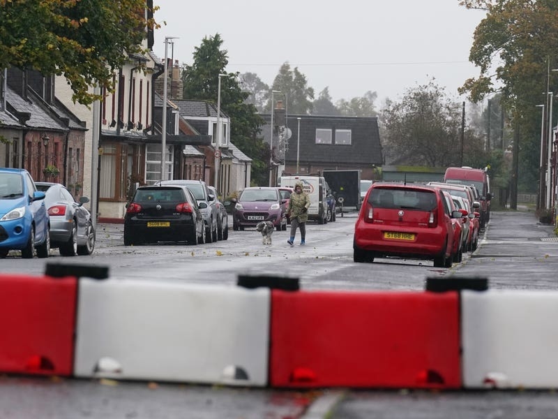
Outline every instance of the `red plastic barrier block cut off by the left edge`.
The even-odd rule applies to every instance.
[[[0,372],[73,374],[77,279],[0,275]]]

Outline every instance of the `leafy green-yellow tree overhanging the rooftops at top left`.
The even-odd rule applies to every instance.
[[[142,54],[158,24],[145,0],[0,0],[0,68],[64,75],[73,99],[89,105],[91,86],[113,89],[113,74]],[[100,97],[97,97],[100,98]]]

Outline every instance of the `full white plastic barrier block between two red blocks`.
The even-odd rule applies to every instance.
[[[269,288],[80,279],[75,376],[264,386]]]

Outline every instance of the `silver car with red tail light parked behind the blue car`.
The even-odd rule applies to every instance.
[[[50,247],[57,247],[62,256],[90,255],[95,248],[95,228],[91,213],[84,207],[89,198],[77,203],[65,186],[52,182],[36,182],[45,193],[50,216]]]

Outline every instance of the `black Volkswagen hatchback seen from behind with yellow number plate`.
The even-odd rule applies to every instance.
[[[124,244],[188,242],[203,244],[204,217],[186,186],[140,186],[124,217]]]

